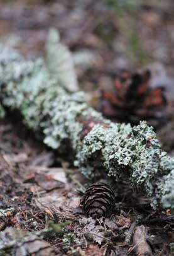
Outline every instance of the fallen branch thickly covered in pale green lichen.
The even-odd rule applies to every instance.
[[[48,44],[52,58],[53,49],[57,57],[55,37]],[[18,109],[24,123],[51,148],[67,154],[73,149],[75,165],[87,177],[129,180],[134,189],[152,198],[153,207],[174,209],[174,161],[161,150],[153,128],[145,122],[131,127],[104,119],[82,92],[67,93],[65,80],[54,76],[52,65],[50,72],[52,58],[25,61],[1,47],[0,104]]]

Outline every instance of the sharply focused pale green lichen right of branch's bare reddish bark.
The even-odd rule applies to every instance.
[[[150,147],[147,148],[149,140]],[[171,171],[174,170],[174,161],[161,151],[153,128],[146,122],[133,128],[111,124],[107,130],[95,125],[85,137],[77,157],[78,165],[82,166],[81,171],[87,177],[102,176],[104,172],[116,180],[127,179],[134,189],[152,197],[153,207],[160,198],[163,206],[174,207]]]

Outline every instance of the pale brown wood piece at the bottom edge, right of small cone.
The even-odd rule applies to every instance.
[[[151,256],[152,251],[150,245],[146,241],[147,228],[143,225],[137,226],[134,231],[133,244],[135,246],[136,255]]]

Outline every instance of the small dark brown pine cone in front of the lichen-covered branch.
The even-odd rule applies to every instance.
[[[81,205],[87,216],[110,216],[115,204],[115,194],[106,183],[94,183],[84,193]]]

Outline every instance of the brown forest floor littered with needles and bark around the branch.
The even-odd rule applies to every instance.
[[[154,83],[165,85],[171,108],[173,11],[172,1],[142,1],[141,6],[112,6],[109,11],[104,1],[0,0],[0,42],[26,57],[43,56],[48,28],[55,26],[75,56],[80,88],[87,97],[112,87],[112,76],[120,69],[148,67]],[[134,230],[141,225],[147,232],[141,239],[153,255],[172,255],[170,211],[153,211],[150,199],[125,182],[111,218],[86,218],[79,203],[88,181],[68,160],[69,152],[60,156],[46,148],[14,115],[0,120],[0,250],[4,255],[11,255],[13,247],[20,248],[21,254],[16,255],[22,256],[135,255]],[[171,155],[173,127],[171,117],[158,131]],[[29,233],[16,235],[14,228]],[[141,245],[139,250],[143,253]]]

